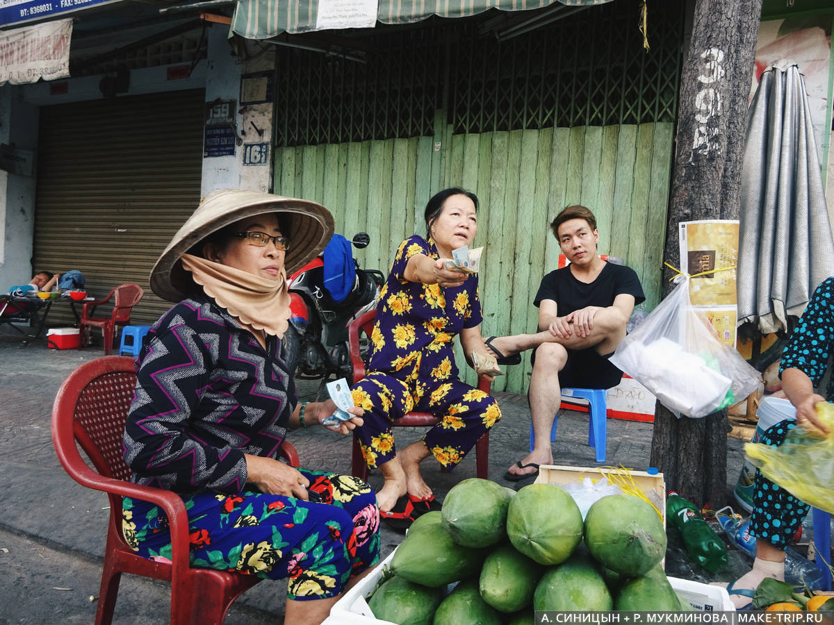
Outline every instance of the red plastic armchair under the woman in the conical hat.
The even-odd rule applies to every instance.
[[[96,358],[70,373],[53,405],[52,432],[58,460],[76,482],[108,493],[110,499],[96,623],[113,620],[123,572],[171,582],[172,623],[222,623],[234,599],[258,583],[260,577],[190,567],[188,515],[182,498],[171,491],[128,482],[130,469],[122,457],[122,433],[135,384],[133,358]],[[84,462],[78,446],[93,468]],[[281,455],[291,466],[299,466],[298,454],[290,443],[282,443]],[[172,562],[145,559],[128,546],[122,535],[123,497],[163,508],[170,522]]]

